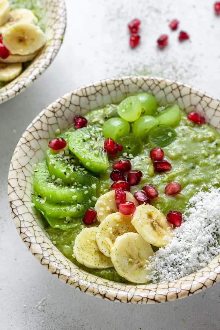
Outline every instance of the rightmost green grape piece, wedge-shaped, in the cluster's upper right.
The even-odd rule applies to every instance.
[[[175,126],[180,122],[181,112],[177,104],[168,106],[159,115],[156,116],[160,124]]]

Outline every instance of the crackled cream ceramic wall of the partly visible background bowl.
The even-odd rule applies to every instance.
[[[48,68],[60,49],[66,29],[65,0],[47,0],[46,37],[47,43],[31,64],[16,79],[0,88],[0,103],[16,96],[29,87]]]

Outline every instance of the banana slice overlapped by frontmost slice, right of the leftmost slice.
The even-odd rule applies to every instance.
[[[100,251],[107,257],[110,257],[110,250],[118,236],[129,232],[136,233],[131,224],[131,215],[123,215],[120,212],[108,215],[98,229],[96,242]]]

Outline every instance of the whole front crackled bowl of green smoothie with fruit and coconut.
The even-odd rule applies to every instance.
[[[124,77],[64,95],[15,149],[17,230],[83,292],[155,303],[220,280],[220,103],[170,80]]]

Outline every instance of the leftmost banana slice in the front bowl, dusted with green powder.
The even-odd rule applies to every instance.
[[[77,235],[73,248],[73,256],[77,261],[89,268],[113,267],[111,259],[100,252],[96,243],[97,227],[84,228]]]

